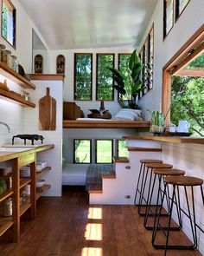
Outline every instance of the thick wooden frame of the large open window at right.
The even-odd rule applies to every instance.
[[[178,75],[180,70],[201,52],[204,52],[204,24],[163,67],[162,111],[166,116],[165,124],[169,124],[170,121],[171,76]]]

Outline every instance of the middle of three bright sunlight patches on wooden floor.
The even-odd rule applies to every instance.
[[[86,240],[102,240],[102,224],[86,224],[85,238]]]

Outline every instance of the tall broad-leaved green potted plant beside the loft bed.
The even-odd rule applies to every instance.
[[[128,100],[128,108],[137,108],[136,99],[138,93],[143,89],[140,79],[143,64],[135,49],[127,62],[127,69],[122,72],[119,69],[110,68],[113,80],[117,82],[114,88],[118,90],[120,101],[123,102],[123,95]]]

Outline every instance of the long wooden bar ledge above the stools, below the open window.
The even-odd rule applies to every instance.
[[[143,136],[124,136],[123,138],[125,140],[150,140],[150,141],[164,141],[164,142],[174,142],[174,143],[204,144],[204,138],[202,138],[202,137],[177,137],[177,136],[143,135]]]

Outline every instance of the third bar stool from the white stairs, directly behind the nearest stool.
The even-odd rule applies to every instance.
[[[153,226],[148,226],[147,225],[149,216],[158,214],[157,211],[158,211],[158,207],[159,207],[159,198],[161,198],[161,200],[162,200],[162,194],[164,193],[163,188],[162,188],[163,178],[165,176],[183,176],[183,175],[185,175],[185,171],[183,171],[181,169],[175,169],[175,168],[174,169],[170,169],[170,168],[154,169],[153,173],[155,174],[155,176],[154,176],[154,181],[153,181],[153,185],[152,185],[151,192],[150,192],[150,200],[147,203],[145,217],[144,217],[144,220],[143,220],[143,226],[145,226],[149,230],[153,230],[154,226],[155,226],[155,223],[154,223]],[[158,179],[158,182],[159,182],[158,190],[157,190],[158,191],[157,192],[157,198],[156,198],[156,212],[154,214],[150,214],[151,200],[152,200],[152,195],[153,195],[154,190],[155,190],[156,178]],[[169,211],[170,211],[169,189],[167,189],[167,191],[165,192],[165,196],[166,196],[168,213],[160,213],[160,215],[169,216]],[[177,214],[178,214],[179,226],[171,227],[171,229],[172,230],[180,230],[182,228],[181,212],[179,211],[180,207],[178,206],[177,201],[175,201],[175,205],[176,205]],[[165,229],[165,227],[164,227],[164,229]]]

